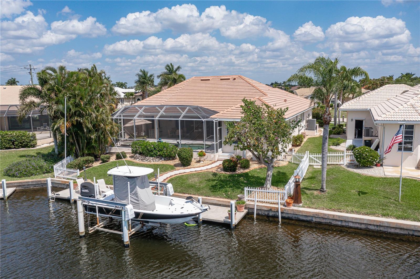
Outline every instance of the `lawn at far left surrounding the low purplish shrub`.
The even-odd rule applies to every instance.
[[[26,150],[1,150],[0,151],[0,176],[1,179],[5,179],[6,181],[12,180],[24,180],[24,179],[37,179],[37,178],[47,178],[51,176],[51,173],[40,174],[37,176],[29,176],[29,177],[9,177],[4,175],[4,169],[19,160],[25,159],[26,156],[41,156],[44,154],[53,151],[54,147],[47,146],[37,149],[26,149]],[[54,176],[54,173],[52,173]]]

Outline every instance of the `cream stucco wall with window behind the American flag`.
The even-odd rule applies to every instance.
[[[385,124],[385,149],[391,142],[392,137],[394,137],[395,133],[399,129],[399,124]],[[414,125],[414,141],[413,141],[413,151],[408,152],[404,151],[402,158],[403,158],[403,166],[409,168],[418,168],[419,167],[419,160],[420,160],[420,124]],[[385,166],[392,166],[392,167],[399,167],[401,166],[401,151],[397,151],[398,147],[395,144],[392,147],[391,152],[385,154],[386,159],[383,160],[383,165]]]

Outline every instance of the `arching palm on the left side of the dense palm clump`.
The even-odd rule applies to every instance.
[[[64,96],[69,88],[76,82],[78,74],[70,72],[65,66],[45,67],[37,72],[39,86],[26,85],[19,93],[21,106],[17,115],[21,122],[29,111],[40,109],[41,113],[46,111],[52,122],[59,118],[60,102],[64,101]],[[53,125],[51,125],[53,127]],[[58,154],[57,128],[52,128],[55,154]]]

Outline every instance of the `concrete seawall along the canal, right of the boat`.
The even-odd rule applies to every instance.
[[[186,196],[197,197],[194,195],[177,193],[173,194],[173,196],[179,198],[185,198]],[[202,202],[210,205],[228,206],[230,201],[231,200],[229,199],[202,197]],[[247,202],[245,208],[248,209],[248,213],[254,213],[254,203]],[[257,203],[257,214],[278,217],[278,207],[277,205]],[[341,227],[351,227],[361,230],[420,236],[420,222],[414,221],[349,214],[305,207],[289,208],[284,206],[281,206],[281,217]]]

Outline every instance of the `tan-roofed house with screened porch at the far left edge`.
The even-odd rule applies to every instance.
[[[16,115],[21,101],[19,93],[24,85],[1,85],[0,86],[0,129],[45,131],[50,127],[50,119],[45,113],[41,114],[34,109],[26,115],[26,118],[19,124]]]

